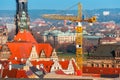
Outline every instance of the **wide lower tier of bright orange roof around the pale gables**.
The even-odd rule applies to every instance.
[[[30,42],[9,42],[7,43],[12,55],[10,59],[14,59],[17,57],[18,59],[21,58],[29,58],[32,46],[36,46],[36,50],[38,55],[42,50],[44,50],[46,57],[50,57],[52,54],[52,47],[50,44],[32,44]]]

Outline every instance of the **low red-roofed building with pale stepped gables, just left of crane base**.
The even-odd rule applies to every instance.
[[[44,69],[45,72],[59,72],[61,70],[64,74],[75,74],[77,66],[74,59],[70,61],[31,61],[31,64],[36,68]]]

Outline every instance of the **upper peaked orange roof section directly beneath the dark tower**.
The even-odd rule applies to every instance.
[[[37,43],[33,35],[26,30],[19,31],[18,34],[14,37],[14,41],[25,41],[25,42]]]

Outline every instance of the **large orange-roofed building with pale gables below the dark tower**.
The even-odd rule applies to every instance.
[[[48,43],[37,43],[33,35],[27,30],[20,30],[12,42],[7,42],[9,60],[51,60],[58,59],[55,50]],[[4,54],[3,54],[4,56]],[[0,57],[4,59],[4,57]],[[14,61],[15,62],[15,61]]]

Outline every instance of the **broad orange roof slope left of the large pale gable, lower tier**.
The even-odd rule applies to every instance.
[[[26,42],[12,42],[12,43],[7,43],[7,45],[12,53],[10,59],[14,59],[15,57],[21,59],[21,58],[29,58],[33,44]]]

